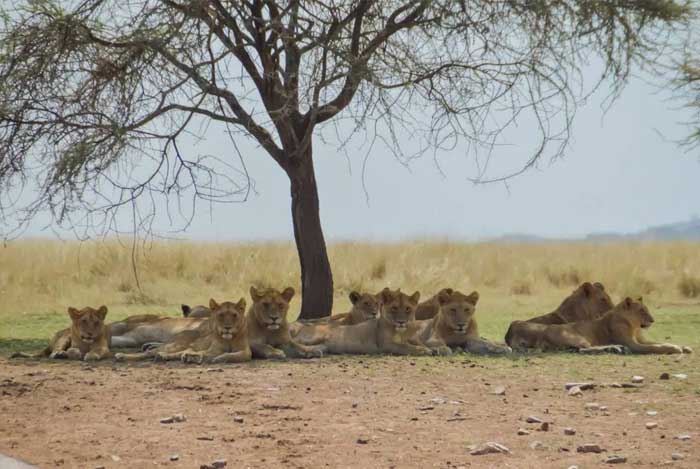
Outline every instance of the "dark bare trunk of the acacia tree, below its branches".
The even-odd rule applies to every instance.
[[[294,239],[301,264],[300,319],[321,318],[333,308],[333,274],[323,238],[311,147],[287,169]]]

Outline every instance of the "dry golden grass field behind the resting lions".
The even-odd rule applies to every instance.
[[[341,243],[329,247],[335,312],[353,290],[385,286],[423,297],[450,286],[478,290],[484,336],[502,340],[513,319],[549,312],[576,285],[601,281],[613,301],[644,295],[654,339],[700,344],[700,243],[459,244]],[[132,257],[133,256],[133,257]],[[139,284],[134,276],[135,259]],[[106,304],[108,319],[136,313],[179,315],[180,304],[248,299],[250,285],[299,291],[291,244],[26,240],[0,248],[0,354],[40,347],[68,324],[67,306]],[[299,296],[292,302],[298,311]]]

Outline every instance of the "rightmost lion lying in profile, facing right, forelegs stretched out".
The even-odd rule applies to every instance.
[[[515,321],[508,328],[506,343],[518,350],[543,351],[576,349],[583,353],[600,351],[633,353],[691,353],[690,347],[657,344],[642,337],[654,318],[642,298],[625,298],[598,319],[568,324],[539,324]]]

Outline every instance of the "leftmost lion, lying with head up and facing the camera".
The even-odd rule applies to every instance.
[[[112,355],[109,350],[110,331],[105,325],[106,306],[97,309],[88,306],[81,310],[69,307],[68,315],[71,319],[70,328],[54,334],[44,350],[37,354],[19,352],[12,357],[96,361]]]

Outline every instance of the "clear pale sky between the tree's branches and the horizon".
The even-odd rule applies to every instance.
[[[603,112],[594,96],[574,122],[566,156],[504,184],[474,185],[474,161],[457,149],[400,164],[385,148],[348,155],[315,141],[321,218],[326,239],[474,240],[507,233],[573,237],[590,232],[631,232],[700,215],[700,149],[684,152],[670,139],[686,132],[678,103],[633,80]],[[527,127],[527,126],[526,126]],[[661,136],[662,134],[663,136]],[[527,130],[514,132],[493,153],[497,170],[517,169],[530,156]],[[292,240],[289,183],[282,170],[250,143],[241,143],[256,192],[245,203],[202,205],[193,225],[177,237],[193,240]],[[231,154],[221,129],[190,151]],[[25,236],[51,236],[38,220]],[[128,229],[128,220],[123,228]],[[168,235],[165,217],[155,229]]]

